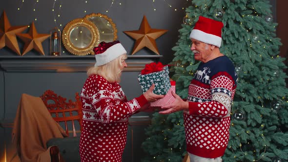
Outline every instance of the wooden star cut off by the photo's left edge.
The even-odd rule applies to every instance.
[[[27,27],[28,26],[11,26],[5,11],[3,11],[0,18],[0,49],[7,46],[18,55],[21,55],[16,34],[21,33]]]

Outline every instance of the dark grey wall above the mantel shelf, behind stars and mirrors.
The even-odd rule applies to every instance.
[[[5,10],[8,19],[12,26],[17,25],[30,25],[32,21],[35,22],[38,33],[49,34],[49,31],[56,26],[54,19],[56,18],[57,26],[62,30],[65,24],[70,20],[76,18],[82,18],[86,14],[90,13],[102,13],[106,14],[111,18],[118,29],[118,40],[123,43],[128,54],[132,52],[134,46],[134,40],[123,33],[123,31],[138,30],[145,15],[151,28],[155,29],[166,29],[168,30],[160,38],[156,39],[159,53],[163,55],[161,61],[171,61],[172,51],[171,48],[175,45],[178,40],[178,29],[181,28],[185,11],[182,7],[187,7],[187,1],[171,1],[173,8],[178,9],[174,11],[173,8],[169,7],[166,1],[156,1],[153,3],[152,0],[121,0],[121,5],[118,4],[118,0],[109,8],[111,0],[57,0],[62,1],[62,7],[60,17],[53,16],[53,2],[54,0],[25,0],[23,3],[21,0],[3,0],[0,4],[0,12]],[[59,5],[55,4],[55,10],[58,10]],[[156,11],[153,10],[153,4]],[[18,10],[17,8],[20,8]],[[35,7],[35,11],[33,8]],[[105,11],[109,9],[108,13]],[[86,13],[84,13],[86,11]],[[56,14],[58,11],[54,11]],[[35,21],[35,18],[37,20]],[[60,26],[59,24],[62,24]],[[23,33],[26,33],[24,31]],[[23,43],[19,40],[19,44]],[[42,43],[45,54],[49,51],[48,39]],[[22,51],[22,50],[21,50]],[[15,55],[13,51],[8,48],[0,50],[1,56]],[[26,55],[41,55],[35,51],[31,51]],[[71,55],[65,51],[62,55]],[[155,55],[152,51],[145,48],[137,52],[135,55]]]

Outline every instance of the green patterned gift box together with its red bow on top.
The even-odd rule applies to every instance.
[[[171,87],[168,66],[164,66],[161,62],[146,64],[138,75],[138,81],[143,93],[150,88],[152,83],[155,84],[153,93],[158,95],[165,95]]]

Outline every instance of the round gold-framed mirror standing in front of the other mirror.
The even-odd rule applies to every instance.
[[[100,42],[97,26],[85,19],[74,19],[66,24],[62,31],[64,47],[74,55],[92,54],[93,48]]]

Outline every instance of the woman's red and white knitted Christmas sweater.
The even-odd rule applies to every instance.
[[[128,119],[147,100],[141,95],[127,101],[119,83],[91,75],[82,88],[81,101],[81,162],[121,162]]]

